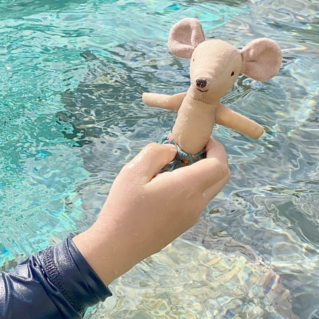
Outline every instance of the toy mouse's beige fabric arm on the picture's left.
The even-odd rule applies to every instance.
[[[165,108],[170,111],[178,111],[187,92],[174,95],[159,94],[159,93],[143,93],[143,102],[154,108]]]

